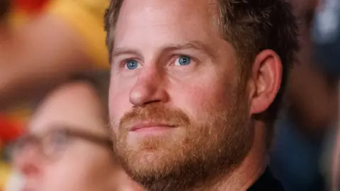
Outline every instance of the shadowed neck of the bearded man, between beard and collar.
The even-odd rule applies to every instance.
[[[216,181],[217,183],[212,187],[197,188],[197,190],[242,191],[249,189],[259,179],[268,164],[266,143],[263,141],[266,139],[266,130],[264,124],[255,129],[253,145],[241,165],[229,175],[219,178],[219,181]]]

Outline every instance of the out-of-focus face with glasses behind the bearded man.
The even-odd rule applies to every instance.
[[[113,160],[102,106],[83,82],[62,86],[42,102],[15,147],[23,190],[138,190]]]

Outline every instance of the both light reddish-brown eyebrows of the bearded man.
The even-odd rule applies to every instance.
[[[174,50],[186,50],[186,49],[193,49],[205,52],[210,57],[215,57],[214,52],[210,49],[209,45],[205,45],[202,42],[199,41],[190,41],[183,44],[170,44],[166,45],[162,48],[162,52],[169,52]],[[142,54],[140,51],[135,49],[130,49],[127,47],[115,47],[113,49],[112,58],[118,57],[122,54],[135,54],[139,57],[142,57]]]

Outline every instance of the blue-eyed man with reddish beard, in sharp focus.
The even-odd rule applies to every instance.
[[[111,1],[115,150],[146,190],[283,190],[266,168],[297,52],[284,0]]]

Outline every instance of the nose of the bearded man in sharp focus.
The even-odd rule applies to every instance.
[[[156,66],[143,68],[130,91],[130,103],[143,106],[154,102],[165,103],[168,100],[169,95],[166,92],[165,75],[162,69]]]

